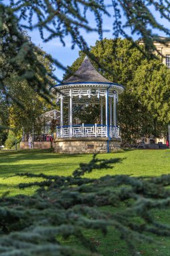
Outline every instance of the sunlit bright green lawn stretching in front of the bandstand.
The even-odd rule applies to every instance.
[[[17,172],[34,172],[69,175],[80,162],[89,162],[92,155],[60,155],[48,150],[0,151],[1,193],[7,189],[11,194],[21,193],[16,185],[29,182],[28,178],[11,177]],[[134,176],[156,176],[170,172],[170,150],[126,150],[124,152],[100,154],[98,158],[121,158],[122,162],[110,170],[97,170],[90,177],[105,174],[132,174]],[[22,192],[23,193],[23,192]],[[26,191],[32,193],[32,191]]]

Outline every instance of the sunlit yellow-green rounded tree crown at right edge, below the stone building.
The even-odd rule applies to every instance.
[[[170,121],[170,72],[165,65],[157,64],[157,61],[149,63],[144,61],[142,67],[138,67],[134,77],[134,88],[144,102],[144,106],[147,106],[155,117],[155,121],[167,126]]]

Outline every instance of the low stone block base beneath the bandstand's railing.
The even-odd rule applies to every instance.
[[[109,152],[120,150],[122,139],[109,140]],[[60,154],[98,154],[108,153],[107,137],[72,137],[56,138],[54,140],[54,152]]]

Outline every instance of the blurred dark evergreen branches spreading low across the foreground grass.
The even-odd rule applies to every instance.
[[[153,234],[170,236],[170,225],[159,222],[153,214],[157,209],[169,209],[170,175],[147,179],[126,175],[81,177],[95,169],[102,172],[103,168],[112,168],[119,161],[94,156],[89,164],[81,164],[74,177],[17,174],[43,181],[20,185],[38,186],[30,197],[1,197],[1,255],[79,255],[77,247],[61,243],[70,236],[85,247],[81,255],[99,255],[85,230],[100,230],[105,235],[111,226],[127,243],[129,255],[138,255],[138,242],[155,243]],[[110,206],[110,211],[105,206]]]

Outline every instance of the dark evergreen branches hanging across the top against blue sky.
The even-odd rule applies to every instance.
[[[69,34],[73,42],[73,48],[78,45],[81,50],[88,51],[85,38],[83,38],[81,29],[87,32],[96,31],[102,38],[103,15],[113,16],[113,34],[116,38],[124,36],[132,38],[127,34],[126,27],[130,28],[131,34],[138,34],[144,41],[148,53],[157,51],[153,41],[166,43],[168,38],[159,38],[155,30],[159,30],[170,36],[169,26],[159,24],[157,18],[153,15],[151,9],[156,9],[157,15],[170,21],[169,18],[169,1],[153,0],[112,0],[112,5],[107,5],[104,1],[11,1],[13,11],[19,11],[20,19],[28,21],[28,26],[22,27],[33,30],[39,28],[42,39],[44,39],[44,30],[49,32],[49,36],[44,39],[48,42],[52,38],[60,38],[65,46],[65,35]],[[96,26],[91,26],[87,11],[91,11],[96,21]],[[122,18],[122,11],[126,21]],[[37,22],[33,22],[36,15]],[[81,28],[81,29],[80,29]],[[137,46],[137,45],[136,45]]]

